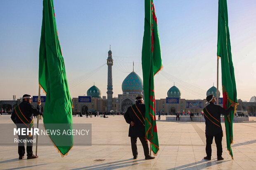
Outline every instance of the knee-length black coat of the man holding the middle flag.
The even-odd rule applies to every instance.
[[[141,103],[136,105],[142,113],[142,116],[145,118],[145,105]],[[131,121],[135,123],[134,126],[130,125],[129,127],[129,137],[145,137],[145,126],[134,114],[132,107],[128,107],[127,112],[124,114],[124,119],[126,119],[128,124],[130,124]]]

